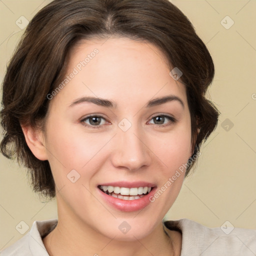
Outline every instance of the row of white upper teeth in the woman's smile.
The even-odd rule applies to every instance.
[[[100,186],[103,191],[108,190],[109,193],[114,192],[116,194],[122,194],[122,195],[138,195],[138,194],[146,194],[147,192],[150,192],[151,187],[147,186],[140,186],[140,187],[119,187],[119,186]]]

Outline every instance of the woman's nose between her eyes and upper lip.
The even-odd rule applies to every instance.
[[[151,151],[147,146],[146,136],[135,125],[131,125],[126,131],[118,127],[113,139],[111,159],[116,168],[135,171],[150,164]]]

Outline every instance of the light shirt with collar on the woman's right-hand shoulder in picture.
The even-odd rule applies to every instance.
[[[182,233],[181,256],[207,255],[217,253],[228,255],[256,255],[256,230],[239,227],[210,228],[196,221],[182,218],[164,221],[170,230]]]

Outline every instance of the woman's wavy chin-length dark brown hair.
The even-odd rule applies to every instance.
[[[0,112],[1,152],[8,158],[16,155],[30,170],[33,190],[45,196],[55,196],[49,162],[30,151],[20,123],[43,127],[49,104],[46,95],[65,74],[75,43],[111,35],[153,43],[166,56],[170,70],[182,71],[179,81],[186,87],[191,116],[191,157],[217,125],[218,110],[205,98],[214,75],[211,56],[175,5],[168,0],[54,0],[29,22],[8,64]],[[185,176],[194,162],[187,166]]]

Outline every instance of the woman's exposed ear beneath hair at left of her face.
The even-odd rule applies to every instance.
[[[33,155],[39,160],[47,160],[48,157],[46,147],[44,146],[45,141],[42,131],[36,130],[31,126],[21,125],[21,128],[24,133],[26,143],[32,151]]]

